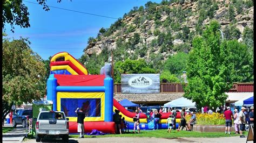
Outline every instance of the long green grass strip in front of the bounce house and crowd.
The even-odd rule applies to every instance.
[[[103,138],[103,137],[156,137],[156,138],[177,138],[177,137],[193,137],[193,138],[218,138],[218,137],[229,137],[229,135],[224,132],[196,132],[196,131],[173,131],[171,133],[167,133],[166,130],[141,130],[140,134],[136,133],[124,133],[124,134],[107,134],[107,135],[85,135],[85,138]],[[248,131],[245,131],[245,135],[248,134]],[[239,134],[232,134],[231,137],[239,136]],[[79,135],[69,135],[69,138],[78,138]]]

